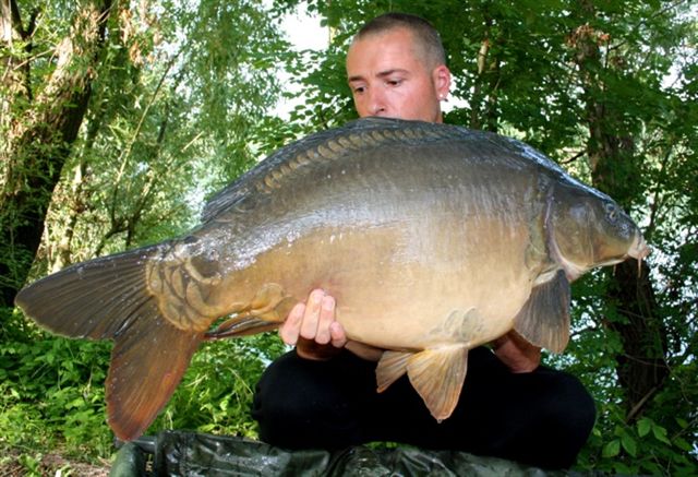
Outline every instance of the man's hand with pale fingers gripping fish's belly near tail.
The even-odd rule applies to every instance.
[[[305,303],[298,303],[279,329],[287,345],[296,345],[298,356],[325,360],[344,347],[360,358],[377,361],[383,350],[347,339],[345,329],[337,321],[335,299],[322,289],[311,291]]]

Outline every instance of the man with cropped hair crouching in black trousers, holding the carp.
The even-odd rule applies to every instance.
[[[361,117],[443,120],[450,72],[438,34],[422,19],[390,13],[364,25],[349,48],[347,75]],[[407,377],[376,393],[382,350],[347,339],[335,306],[313,290],[281,326],[296,348],[257,384],[253,416],[262,440],[289,449],[394,441],[547,468],[574,464],[593,426],[593,401],[571,375],[540,366],[540,349],[515,332],[493,351],[470,351],[458,406],[438,424]]]

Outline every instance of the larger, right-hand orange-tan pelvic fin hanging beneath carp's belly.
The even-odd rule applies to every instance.
[[[468,348],[449,345],[425,349],[407,361],[407,375],[430,413],[440,422],[458,404],[468,370]]]

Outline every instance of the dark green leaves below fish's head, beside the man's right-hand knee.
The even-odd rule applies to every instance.
[[[695,475],[695,428],[688,420],[695,419],[698,395],[695,365],[677,367],[652,406],[630,418],[615,374],[623,345],[599,319],[624,320],[601,299],[604,274],[594,272],[575,283],[573,341],[564,355],[546,358],[581,379],[597,403],[597,422],[577,465],[621,475]]]

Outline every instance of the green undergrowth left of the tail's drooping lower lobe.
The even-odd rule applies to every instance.
[[[31,327],[23,339],[0,346],[0,446],[65,446],[71,455],[108,455],[103,382],[109,345]]]

